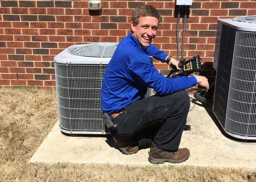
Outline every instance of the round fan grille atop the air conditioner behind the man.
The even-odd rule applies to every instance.
[[[77,56],[109,58],[113,56],[117,45],[118,43],[87,44],[83,46],[69,48],[68,52],[71,55],[77,55]]]

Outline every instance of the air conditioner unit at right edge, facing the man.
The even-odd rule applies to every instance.
[[[250,22],[250,23],[248,23]],[[213,112],[232,137],[256,139],[256,16],[218,20]],[[219,42],[218,42],[219,40]]]

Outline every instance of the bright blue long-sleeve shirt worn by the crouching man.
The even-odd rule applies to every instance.
[[[120,41],[110,60],[102,82],[101,107],[112,114],[142,98],[147,88],[160,95],[169,95],[197,84],[195,76],[166,78],[148,56],[164,62],[168,56],[153,45],[144,50],[130,33]]]

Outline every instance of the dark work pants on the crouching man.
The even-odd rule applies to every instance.
[[[189,111],[186,91],[172,95],[154,95],[136,100],[124,107],[123,113],[113,119],[117,134],[138,136],[139,145],[153,136],[154,144],[162,150],[176,150],[180,145]]]

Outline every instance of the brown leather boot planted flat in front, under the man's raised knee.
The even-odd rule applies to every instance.
[[[178,149],[176,152],[163,151],[158,149],[154,142],[151,142],[148,161],[153,164],[162,164],[164,162],[180,163],[186,161],[189,154],[190,152],[186,148]]]

